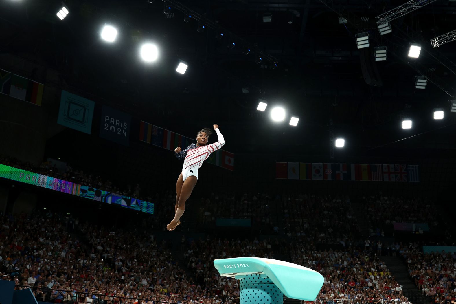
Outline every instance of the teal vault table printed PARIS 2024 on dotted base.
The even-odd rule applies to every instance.
[[[217,259],[214,266],[221,276],[239,280],[239,304],[283,304],[284,294],[313,301],[324,281],[310,268],[261,257]]]

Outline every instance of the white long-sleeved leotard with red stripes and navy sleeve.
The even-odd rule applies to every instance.
[[[217,151],[225,144],[225,139],[223,138],[220,130],[215,129],[215,132],[218,136],[218,142],[213,144],[197,147],[197,144],[191,144],[187,149],[182,150],[179,153],[176,153],[177,158],[184,158],[184,165],[182,166],[182,177],[184,181],[189,176],[196,176],[198,178],[198,168],[202,166],[202,163],[209,157],[212,152]]]

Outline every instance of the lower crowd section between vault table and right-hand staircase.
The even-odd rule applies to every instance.
[[[291,261],[324,277],[317,303],[409,303],[402,287],[372,250],[317,251],[311,245],[291,245]]]

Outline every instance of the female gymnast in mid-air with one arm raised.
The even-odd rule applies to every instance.
[[[225,139],[222,133],[218,129],[218,125],[213,125],[215,132],[218,136],[218,142],[207,145],[209,136],[212,131],[208,128],[204,128],[197,134],[197,143],[191,144],[187,149],[183,150],[177,147],[174,152],[177,158],[184,158],[184,165],[182,172],[177,178],[176,183],[176,205],[174,206],[174,212],[176,215],[171,223],[166,225],[166,229],[173,231],[176,226],[181,223],[180,219],[185,211],[185,202],[192,194],[192,190],[197,184],[198,180],[198,168],[202,166],[202,163],[209,157],[212,152],[217,151],[225,144]]]

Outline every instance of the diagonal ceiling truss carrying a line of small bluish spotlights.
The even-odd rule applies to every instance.
[[[254,44],[252,44],[251,42],[248,42],[247,40],[245,40],[241,37],[238,37],[233,32],[228,31],[227,29],[220,26],[215,21],[212,21],[209,18],[207,18],[201,14],[198,14],[198,12],[192,10],[191,8],[187,7],[186,5],[181,4],[179,1],[176,1],[176,0],[162,0],[162,1],[164,3],[166,3],[167,5],[171,5],[172,8],[175,10],[179,10],[186,15],[187,14],[192,15],[192,19],[195,19],[196,21],[201,22],[207,28],[210,28],[216,32],[223,32],[224,36],[233,37],[234,40],[236,40],[236,42],[237,42],[236,44],[244,45],[244,46],[252,46],[252,47],[250,47],[252,52],[255,52],[255,54],[257,54],[257,55],[260,55],[263,58],[263,60],[268,60],[269,62],[278,62],[279,61],[277,58],[275,58],[271,54],[264,52],[259,47],[254,46]]]

